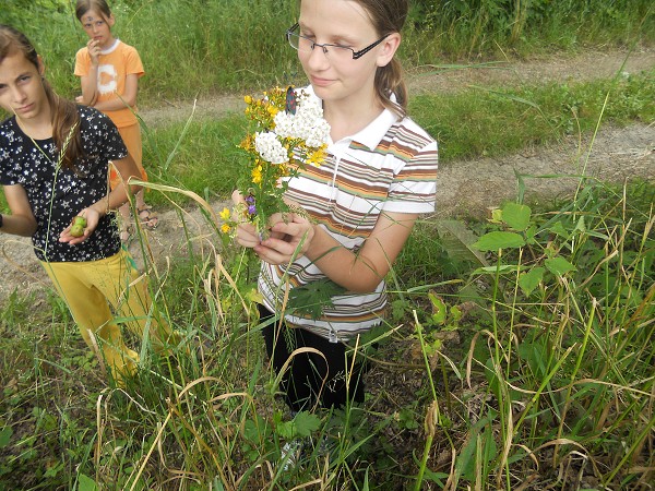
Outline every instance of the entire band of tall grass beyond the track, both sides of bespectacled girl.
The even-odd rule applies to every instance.
[[[110,2],[115,34],[135,46],[146,76],[140,103],[190,99],[296,82],[301,73],[284,33],[296,0]],[[445,61],[652,44],[647,0],[469,0],[413,2],[401,57],[408,67]],[[4,0],[0,21],[23,29],[61,94],[79,93],[74,55],[87,41],[73,0]],[[46,28],[47,27],[47,28]]]

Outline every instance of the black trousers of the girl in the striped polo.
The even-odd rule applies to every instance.
[[[260,322],[274,315],[261,304],[259,311]],[[281,326],[278,321],[263,327],[262,333],[275,373],[282,371],[295,349],[314,348],[323,355],[301,352],[289,362],[281,388],[291,410],[311,410],[317,404],[341,408],[347,400],[364,402],[366,364],[360,360],[353,364],[352,355],[346,356],[346,345],[330,343],[307,330],[289,328],[284,322]]]

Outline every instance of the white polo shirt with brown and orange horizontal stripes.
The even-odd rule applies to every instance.
[[[311,86],[305,88],[317,97]],[[385,109],[367,128],[338,142],[330,142],[320,167],[307,166],[288,181],[286,196],[343,247],[357,252],[372,232],[382,212],[430,213],[437,191],[437,142],[412,119]],[[287,289],[325,279],[306,256],[283,265],[262,262],[259,289],[264,304],[278,312]],[[347,340],[382,322],[386,306],[384,282],[369,294],[332,297],[323,315],[313,320],[285,312],[285,321],[332,342]]]

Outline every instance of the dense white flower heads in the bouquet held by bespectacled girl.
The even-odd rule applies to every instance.
[[[327,143],[330,124],[323,119],[320,100],[306,93],[297,96],[296,113],[279,111],[275,115],[275,133],[283,139],[301,139],[309,147]]]

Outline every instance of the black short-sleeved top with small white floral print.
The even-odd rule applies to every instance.
[[[59,242],[59,235],[81,209],[107,195],[109,160],[128,155],[107,116],[86,106],[78,106],[78,110],[84,157],[74,171],[59,168],[59,151],[52,139],[32,140],[19,128],[15,116],[0,125],[0,183],[25,189],[38,224],[32,242],[40,261],[96,261],[120,249],[114,214],[105,215],[84,242]]]

